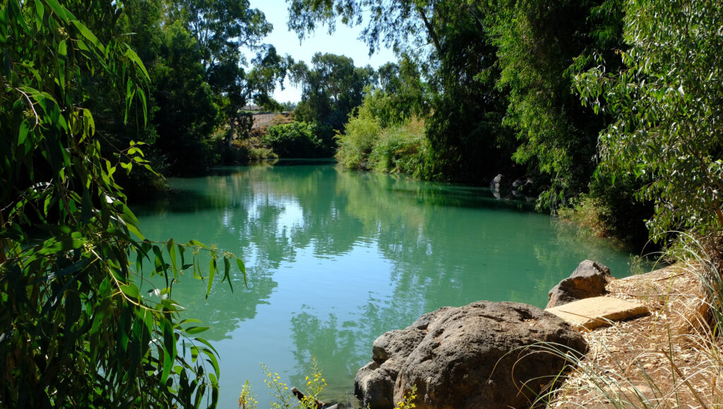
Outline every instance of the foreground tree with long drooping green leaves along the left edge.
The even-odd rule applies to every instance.
[[[116,0],[82,12],[124,18]],[[200,278],[205,251],[208,297],[232,257],[143,239],[114,181],[147,165],[140,146],[103,158],[86,108],[102,73],[127,111],[145,112],[145,67],[125,36],[99,41],[54,0],[5,1],[0,21],[0,405],[214,407],[217,354],[179,320],[171,288],[183,269]]]

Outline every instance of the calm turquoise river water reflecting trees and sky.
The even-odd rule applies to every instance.
[[[351,172],[301,162],[218,169],[169,180],[166,201],[134,208],[146,237],[216,244],[244,260],[248,288],[216,284],[208,300],[191,277],[174,288],[188,315],[212,327],[221,354],[219,408],[237,408],[244,380],[260,408],[260,363],[293,386],[312,354],[325,397],[351,397],[372,342],[427,311],[476,300],[544,307],[580,261],[628,274],[629,255],[585,238],[524,202],[480,187]]]

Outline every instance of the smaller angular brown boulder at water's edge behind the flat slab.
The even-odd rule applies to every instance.
[[[599,297],[607,294],[605,286],[612,279],[610,269],[601,263],[585,260],[578,268],[563,279],[560,284],[549,290],[547,307],[553,308],[583,298]]]

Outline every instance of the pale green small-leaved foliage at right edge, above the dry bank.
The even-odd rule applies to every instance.
[[[652,237],[669,229],[723,227],[723,5],[716,1],[630,0],[625,69],[578,75],[578,92],[614,122],[600,135],[612,174],[649,181]]]

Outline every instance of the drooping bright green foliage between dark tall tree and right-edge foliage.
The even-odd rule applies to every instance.
[[[618,15],[619,1],[603,1],[602,6],[568,0],[508,3],[493,23],[501,68],[497,87],[508,98],[504,124],[521,141],[513,159],[551,178],[540,205],[554,209],[587,190],[597,165],[597,134],[604,118],[583,109],[570,93],[571,73],[589,54],[619,43],[620,18],[596,18],[599,9],[606,16]]]

